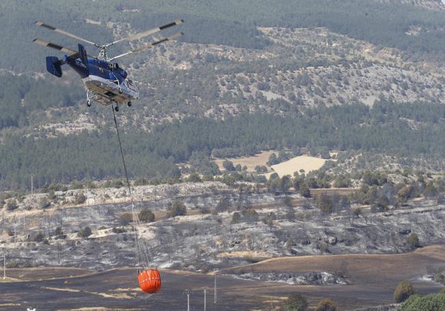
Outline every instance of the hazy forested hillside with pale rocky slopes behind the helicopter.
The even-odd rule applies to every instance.
[[[36,29],[35,20],[99,42],[186,20],[181,42],[120,64],[141,91],[118,114],[132,178],[187,175],[190,159],[205,163],[192,171],[214,175],[212,151],[230,157],[301,147],[315,155],[381,153],[395,164],[408,155],[420,168],[441,169],[445,12],[433,1],[405,2],[280,0],[269,10],[266,1],[111,1],[105,10],[93,3],[88,12],[81,5],[68,12],[58,1],[47,17],[47,0],[4,1],[9,14],[0,25],[8,26],[0,34],[11,46],[0,47],[0,81],[8,85],[0,92],[0,187],[28,187],[30,173],[37,187],[122,174],[109,109],[86,108],[72,71],[64,79],[43,73],[44,55],[54,51],[31,45],[34,37],[75,41]]]

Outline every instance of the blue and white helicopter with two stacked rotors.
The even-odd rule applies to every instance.
[[[164,29],[180,25],[181,23],[183,23],[183,20],[179,19],[172,23],[155,27],[153,29],[146,30],[145,32],[140,32],[139,34],[134,34],[127,38],[121,38],[105,45],[99,45],[98,43],[76,36],[75,34],[65,32],[62,29],[58,29],[40,21],[36,22],[36,25],[39,27],[44,27],[52,30],[53,32],[57,32],[58,34],[63,34],[65,36],[75,38],[76,40],[86,42],[90,45],[94,45],[94,47],[99,49],[99,55],[97,55],[97,57],[88,55],[84,45],[81,45],[80,43],[77,45],[77,51],[75,51],[73,49],[68,49],[67,47],[62,47],[61,45],[55,45],[52,42],[39,38],[36,38],[33,41],[38,45],[50,47],[66,53],[61,59],[56,56],[47,56],[47,71],[56,77],[62,77],[62,65],[68,64],[68,66],[74,69],[74,71],[80,75],[82,82],[84,83],[88,107],[91,106],[92,101],[96,101],[102,105],[110,105],[112,102],[114,102],[116,103],[114,110],[118,112],[119,105],[126,103],[128,107],[131,107],[131,101],[139,99],[139,90],[135,83],[128,78],[127,71],[120,68],[118,63],[114,62],[114,60],[132,53],[143,51],[144,49],[155,47],[156,45],[160,45],[161,43],[169,40],[176,40],[182,36],[183,33],[178,32],[172,36],[142,45],[142,47],[132,49],[112,58],[108,57],[108,47],[116,45],[119,42],[138,40],[146,36],[151,36]]]

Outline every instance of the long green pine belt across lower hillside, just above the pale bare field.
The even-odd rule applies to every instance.
[[[218,169],[211,162],[199,162],[219,151],[250,156],[261,150],[307,147],[313,154],[338,149],[442,157],[445,124],[440,121],[444,118],[442,105],[379,101],[372,108],[362,104],[311,108],[295,117],[191,117],[162,123],[150,133],[129,129],[122,139],[130,177],[180,176],[177,164],[188,160],[214,175]],[[417,120],[416,127],[411,120]],[[26,187],[30,174],[35,186],[122,177],[114,130],[107,127],[58,138],[5,135],[0,148],[0,188]]]

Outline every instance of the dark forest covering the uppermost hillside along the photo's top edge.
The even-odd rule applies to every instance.
[[[70,10],[66,10],[68,7]],[[169,0],[162,3],[154,0],[125,3],[110,0],[107,5],[81,0],[75,6],[66,0],[20,4],[7,0],[1,2],[0,12],[0,35],[8,42],[0,51],[0,67],[18,71],[44,71],[42,60],[48,51],[31,45],[36,34],[42,34],[42,30],[36,29],[33,22],[42,19],[99,43],[112,41],[112,31],[105,25],[106,22],[131,21],[133,31],[141,31],[177,18],[186,20],[181,31],[186,33],[182,40],[187,42],[255,49],[268,45],[268,40],[259,34],[257,26],[328,27],[334,32],[367,40],[375,45],[431,55],[444,55],[442,47],[445,43],[444,12],[368,0],[277,0],[273,3],[273,9],[270,1],[266,0]],[[102,23],[85,23],[87,18]],[[409,35],[411,27],[420,27],[416,36]],[[10,29],[14,29],[14,32]],[[50,32],[45,32],[44,36],[68,47],[76,43],[71,38]],[[124,48],[125,45],[114,47],[112,53],[119,53]]]

